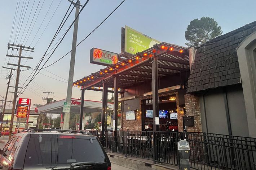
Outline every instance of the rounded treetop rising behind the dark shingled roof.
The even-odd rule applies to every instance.
[[[221,27],[213,18],[194,19],[187,26],[185,38],[189,43],[185,44],[189,47],[197,47],[221,34]]]

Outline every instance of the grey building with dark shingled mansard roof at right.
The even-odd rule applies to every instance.
[[[256,137],[256,22],[196,49],[187,93],[202,131]]]

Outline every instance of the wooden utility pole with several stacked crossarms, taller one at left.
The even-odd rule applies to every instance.
[[[16,75],[16,82],[15,82],[15,87],[14,87],[15,89],[14,89],[14,92],[10,91],[10,93],[14,93],[14,96],[13,96],[13,107],[12,107],[12,117],[11,117],[11,122],[10,122],[10,127],[9,127],[9,139],[10,139],[12,137],[15,104],[16,104],[18,93],[20,94],[20,92],[18,92],[19,74],[20,74],[20,71],[21,71],[20,67],[30,68],[29,66],[21,65],[21,58],[33,59],[32,57],[21,56],[21,53],[22,53],[22,50],[33,52],[34,48],[25,47],[25,46],[22,46],[22,44],[16,45],[16,44],[10,44],[10,43],[8,43],[8,48],[19,49],[19,56],[6,55],[6,56],[9,56],[9,57],[18,57],[19,58],[18,65],[13,64],[13,63],[7,63],[7,65],[17,66],[17,75]]]

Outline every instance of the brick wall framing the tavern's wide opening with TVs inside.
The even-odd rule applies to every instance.
[[[176,108],[177,108],[177,115],[178,115],[178,131],[183,132],[183,119],[184,116],[183,109],[179,107],[179,96],[178,92],[172,92],[172,93],[165,93],[165,94],[159,94],[159,97],[162,96],[170,96],[170,95],[176,95]],[[121,115],[121,126],[123,129],[129,127],[130,131],[141,131],[141,101],[145,99],[150,99],[150,96],[145,96],[140,98],[140,110],[136,113],[136,120],[134,121],[126,121],[125,119],[125,113],[122,113]],[[180,110],[181,109],[181,110]]]

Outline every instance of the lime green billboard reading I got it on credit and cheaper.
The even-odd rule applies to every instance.
[[[153,45],[156,43],[160,43],[160,41],[157,41],[149,36],[146,36],[145,34],[142,34],[125,25],[125,52],[136,54],[136,52],[141,52],[150,47],[153,47]]]

